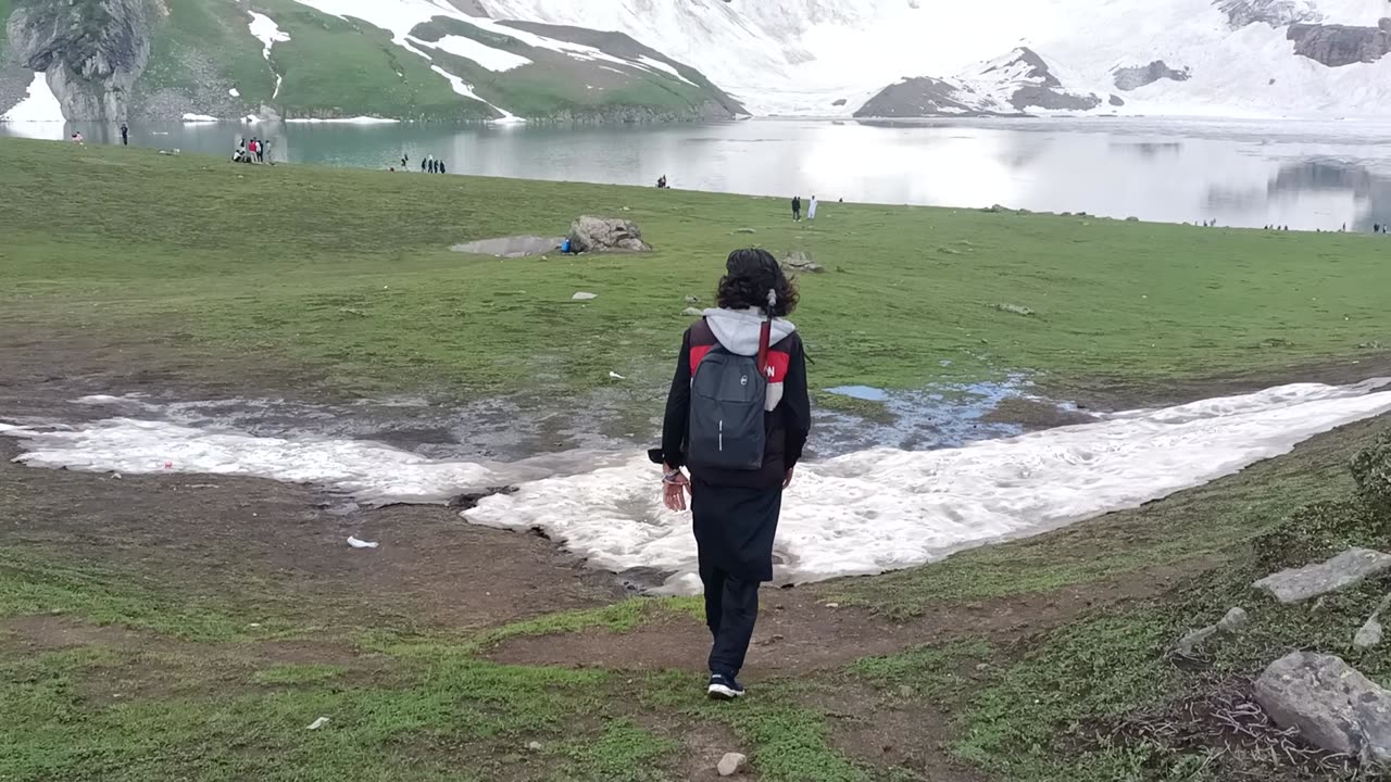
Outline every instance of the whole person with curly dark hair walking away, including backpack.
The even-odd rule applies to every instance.
[[[684,511],[690,494],[714,641],[705,692],[733,700],[744,694],[739,673],[758,619],[758,587],[773,577],[783,490],[811,431],[811,401],[801,337],[783,320],[797,306],[797,289],[768,250],[734,250],[725,270],[718,309],[682,338],[662,447],[651,458],[662,462],[668,508]],[[747,397],[723,391],[750,380],[755,388]]]

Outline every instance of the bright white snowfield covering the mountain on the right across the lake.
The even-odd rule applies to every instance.
[[[1070,111],[1391,113],[1391,57],[1327,67],[1296,54],[1288,38],[1292,24],[1374,31],[1391,17],[1384,0],[479,1],[495,18],[623,31],[700,68],[755,114],[850,114],[904,78],[982,93],[967,102],[975,113],[1014,110],[1000,102],[1013,96],[1011,74],[978,77],[981,65],[1020,46],[1052,65],[1061,92],[1099,99]],[[1118,70],[1155,61],[1188,78],[1120,92]]]

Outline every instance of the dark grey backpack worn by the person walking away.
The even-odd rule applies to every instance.
[[[757,470],[764,466],[764,404],[768,399],[768,338],[764,323],[758,356],[740,356],[716,344],[691,378],[686,461],[694,469]]]

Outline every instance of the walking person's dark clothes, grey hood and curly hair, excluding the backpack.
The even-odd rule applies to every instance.
[[[705,623],[714,641],[707,692],[729,700],[744,694],[737,676],[758,618],[758,587],[773,577],[773,537],[783,490],[791,484],[811,431],[811,399],[801,337],[785,319],[797,306],[797,289],[762,249],[734,250],[725,269],[716,294],[719,306],[705,310],[682,338],[666,398],[662,447],[652,459],[665,469],[668,508],[684,511],[690,495]],[[766,373],[762,459],[754,469],[691,466],[687,477],[683,468],[689,463],[693,426],[691,383],[701,360],[716,346],[734,356],[758,356]]]

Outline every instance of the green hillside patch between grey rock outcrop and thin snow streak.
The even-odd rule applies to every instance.
[[[200,60],[235,86],[246,106],[270,103],[275,75],[246,26],[250,17],[245,7],[207,0],[164,0],[163,7],[168,15],[154,29],[142,89],[193,93],[203,86],[203,74],[188,63]]]

